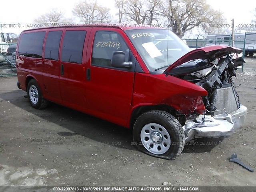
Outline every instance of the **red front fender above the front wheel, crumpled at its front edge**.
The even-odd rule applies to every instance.
[[[201,97],[207,94],[204,88],[174,76],[136,73],[132,111],[140,106],[167,105],[181,114],[202,113],[205,108]]]

